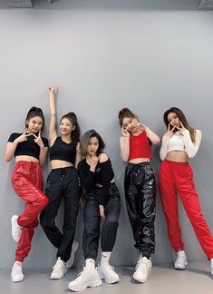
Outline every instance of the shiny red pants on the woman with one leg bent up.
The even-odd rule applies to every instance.
[[[31,249],[34,228],[38,225],[37,216],[48,204],[43,192],[42,169],[37,162],[17,162],[12,174],[15,193],[25,202],[25,209],[18,217],[23,227],[22,236],[15,251],[15,260],[23,261]]]

